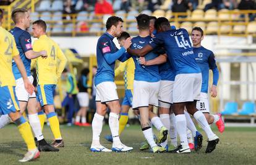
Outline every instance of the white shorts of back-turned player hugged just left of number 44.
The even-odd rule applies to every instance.
[[[159,82],[143,82],[134,80],[134,97],[132,109],[138,109],[148,105],[158,106]]]

